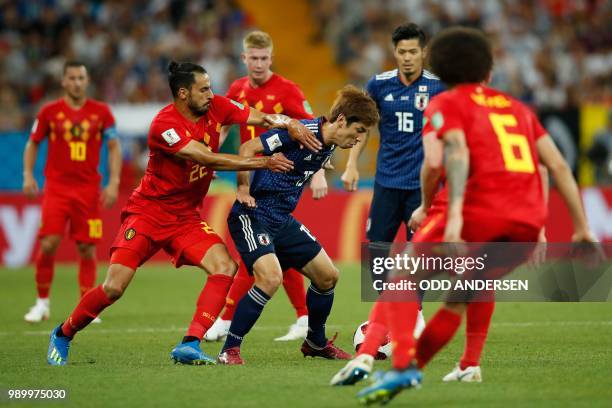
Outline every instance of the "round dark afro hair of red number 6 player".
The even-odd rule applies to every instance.
[[[447,28],[429,44],[429,66],[449,86],[486,81],[493,68],[491,43],[475,28]]]

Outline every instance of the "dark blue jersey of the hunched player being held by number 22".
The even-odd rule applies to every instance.
[[[324,118],[301,120],[317,139],[323,142]],[[289,137],[285,129],[273,129],[260,136],[264,154],[282,152],[293,161],[293,170],[288,173],[274,173],[270,170],[256,170],[251,178],[250,192],[255,198],[256,208],[247,208],[238,201],[232,207],[232,214],[247,214],[268,225],[284,223],[295,210],[304,186],[313,174],[321,169],[333,154],[336,146],[324,146],[318,153],[300,148],[299,143]]]

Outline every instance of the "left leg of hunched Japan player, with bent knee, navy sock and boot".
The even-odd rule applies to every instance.
[[[240,300],[218,361],[227,365],[244,364],[240,346],[259,319],[263,308],[283,281],[283,270],[274,253],[260,256],[253,264],[255,285]]]

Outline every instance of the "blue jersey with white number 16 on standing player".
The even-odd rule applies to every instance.
[[[431,98],[445,90],[444,85],[434,74],[423,70],[416,81],[406,86],[394,69],[372,77],[366,89],[380,112],[376,182],[401,190],[420,188],[423,112]]]

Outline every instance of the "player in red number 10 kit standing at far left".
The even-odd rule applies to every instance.
[[[115,118],[108,105],[87,98],[88,83],[84,64],[72,61],[64,65],[64,96],[42,107],[23,154],[23,192],[34,198],[39,192],[33,176],[38,145],[48,138],[42,222],[38,233],[40,248],[36,255],[38,299],[24,316],[29,323],[49,318],[54,257],[67,223],[79,253],[81,296],[93,288],[96,244],[102,237],[100,204],[108,208],[117,200],[121,147]],[[108,145],[110,175],[100,197],[98,163],[103,143]]]

